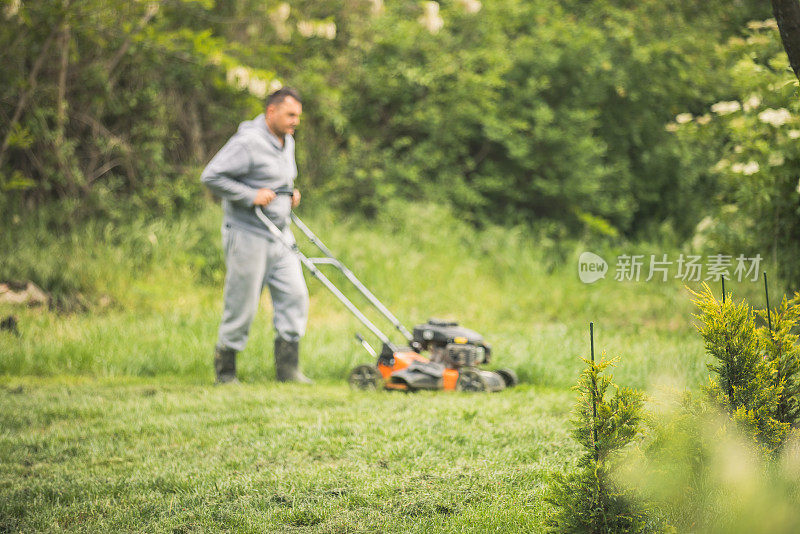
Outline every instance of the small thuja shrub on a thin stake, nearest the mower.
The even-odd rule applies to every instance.
[[[605,373],[614,361],[586,361],[575,389],[573,435],[583,448],[578,469],[556,473],[545,499],[555,506],[552,532],[649,532],[644,507],[615,482],[617,453],[642,433],[643,395],[613,384]],[[613,395],[609,389],[616,391]],[[596,408],[595,408],[596,407]]]

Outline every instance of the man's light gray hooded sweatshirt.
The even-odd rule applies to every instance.
[[[223,224],[268,237],[269,231],[253,212],[256,192],[262,188],[291,190],[296,177],[294,138],[286,135],[281,146],[267,128],[262,113],[239,125],[239,130],[203,170],[201,180],[222,198]],[[264,208],[264,213],[278,228],[284,229],[291,210],[291,197],[278,195]]]

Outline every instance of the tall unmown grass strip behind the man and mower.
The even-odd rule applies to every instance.
[[[557,242],[524,228],[478,231],[431,204],[397,202],[371,221],[302,208],[306,223],[407,327],[429,317],[456,319],[481,332],[495,364],[517,369],[524,382],[572,384],[590,320],[598,347],[622,356],[621,381],[647,387],[661,376],[688,385],[702,380],[702,346],[680,282],[621,283],[609,273],[581,283],[577,256],[602,244]],[[0,307],[19,316],[22,332],[20,339],[0,334],[0,373],[209,381],[224,276],[220,221],[219,208],[209,205],[177,220],[88,223],[66,236],[48,232],[45,220],[20,223],[0,279],[31,279],[63,302],[79,293],[88,312]],[[317,253],[295,233],[309,255]],[[328,274],[402,341],[346,280]],[[353,339],[368,332],[321,284],[307,281],[303,365],[317,379],[338,381],[371,359]],[[265,295],[240,358],[245,380],[273,375],[270,325]]]

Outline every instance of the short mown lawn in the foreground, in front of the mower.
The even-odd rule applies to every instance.
[[[4,380],[6,530],[530,532],[570,395]]]

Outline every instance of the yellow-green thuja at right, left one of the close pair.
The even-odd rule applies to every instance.
[[[762,447],[775,451],[790,427],[778,418],[786,380],[776,376],[775,368],[784,362],[786,347],[764,343],[766,335],[756,327],[756,315],[746,302],[720,302],[708,285],[694,296],[698,328],[714,359],[708,365],[712,374],[705,392]]]

